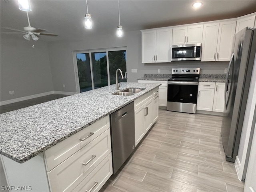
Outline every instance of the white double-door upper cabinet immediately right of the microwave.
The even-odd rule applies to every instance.
[[[229,61],[236,21],[204,25],[201,61]]]

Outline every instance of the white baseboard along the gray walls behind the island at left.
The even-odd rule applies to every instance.
[[[37,98],[37,97],[42,97],[42,96],[51,95],[51,94],[74,95],[74,94],[76,94],[76,92],[49,91],[49,92],[45,92],[45,93],[39,93],[39,94],[20,97],[20,98],[16,98],[16,99],[1,101],[0,106],[15,103],[15,102],[19,102],[19,101],[24,101],[24,100],[28,100],[28,99],[34,99],[34,98]]]

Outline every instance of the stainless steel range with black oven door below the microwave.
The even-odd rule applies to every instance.
[[[196,113],[200,68],[172,69],[168,80],[167,110]]]

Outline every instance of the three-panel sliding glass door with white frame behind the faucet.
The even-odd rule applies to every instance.
[[[118,82],[127,81],[126,48],[108,48],[73,52],[77,92],[104,87],[116,83],[116,70],[124,75]]]

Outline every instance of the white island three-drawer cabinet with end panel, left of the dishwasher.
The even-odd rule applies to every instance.
[[[91,192],[98,192],[113,173],[109,116],[27,162],[2,159],[12,186],[31,186],[32,192],[86,191],[94,186]]]

